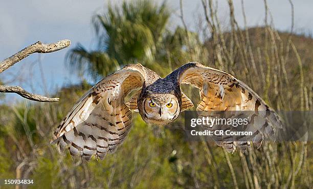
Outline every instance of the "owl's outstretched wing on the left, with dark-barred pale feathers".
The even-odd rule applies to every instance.
[[[89,160],[115,152],[131,127],[131,111],[124,97],[142,88],[145,69],[127,65],[105,77],[75,104],[54,132],[54,142],[72,156]]]

